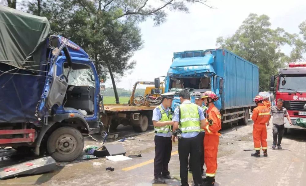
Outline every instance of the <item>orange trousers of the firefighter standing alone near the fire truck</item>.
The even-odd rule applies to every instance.
[[[263,150],[267,149],[267,128],[264,123],[254,123],[253,140],[255,150],[260,150],[261,146],[263,147]]]

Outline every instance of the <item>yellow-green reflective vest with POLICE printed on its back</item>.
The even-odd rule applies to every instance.
[[[179,106],[180,129],[185,132],[200,132],[200,115],[198,105],[194,103]]]

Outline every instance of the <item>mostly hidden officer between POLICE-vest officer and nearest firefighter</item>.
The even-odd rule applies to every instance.
[[[194,92],[193,93],[193,96],[194,96],[194,99],[195,99],[195,103],[196,105],[202,107],[203,109],[203,113],[204,113],[204,116],[206,115],[206,110],[207,110],[207,107],[206,106],[203,106],[203,100],[201,100],[201,93],[200,92]],[[201,173],[202,173],[202,177],[205,176],[204,175],[204,169],[203,169],[203,166],[204,166],[204,136],[205,136],[205,130],[204,129],[200,129],[200,143],[201,143],[201,146],[200,146],[200,162],[201,162]],[[188,170],[191,171],[191,161],[189,159],[189,168]]]

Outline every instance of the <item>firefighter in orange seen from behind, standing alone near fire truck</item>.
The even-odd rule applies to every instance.
[[[265,123],[269,120],[270,109],[263,105],[263,97],[256,96],[254,99],[257,107],[253,110],[252,120],[254,121],[253,125],[253,140],[254,147],[256,152],[251,154],[254,157],[260,157],[260,147],[263,149],[263,156],[267,157],[267,128]],[[261,145],[261,146],[260,146]]]

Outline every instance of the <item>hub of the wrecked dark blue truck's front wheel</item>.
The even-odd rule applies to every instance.
[[[56,143],[56,149],[62,154],[70,154],[76,149],[76,139],[72,135],[61,135]]]

